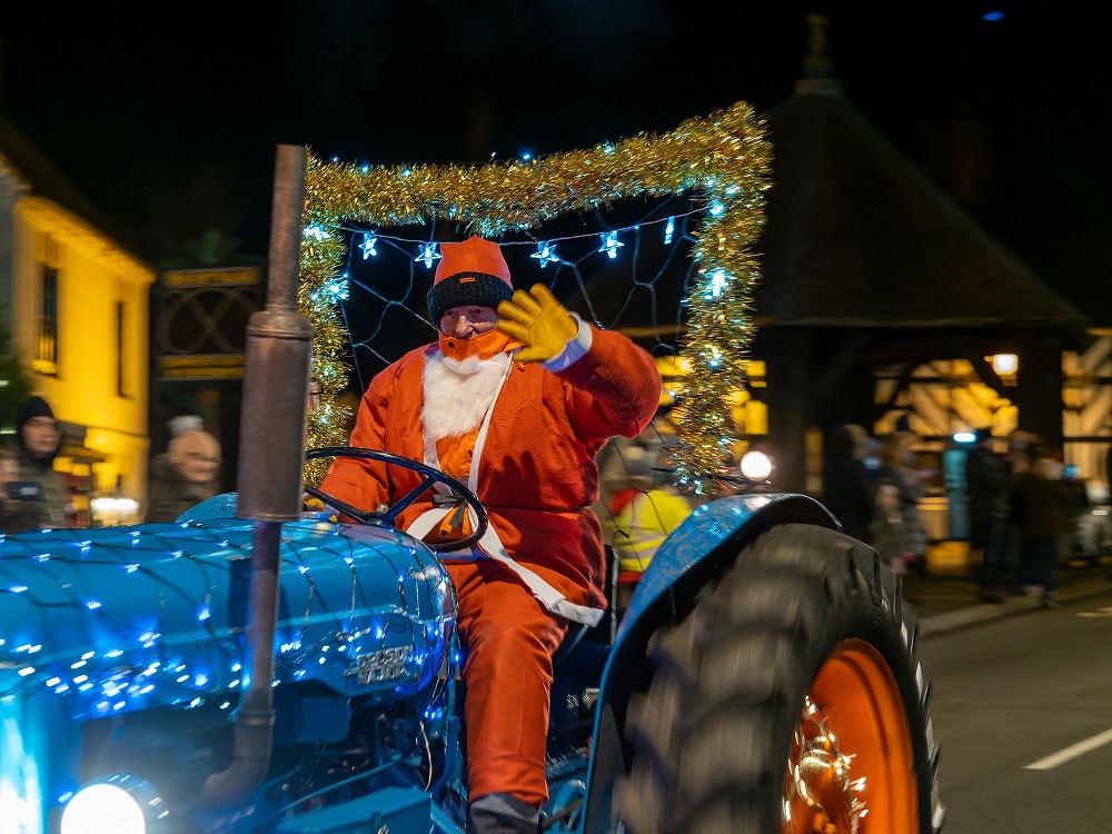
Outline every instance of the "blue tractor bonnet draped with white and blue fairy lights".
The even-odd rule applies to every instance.
[[[436,592],[435,570],[381,548],[369,553],[335,530],[311,520],[284,530],[282,598],[292,609],[278,624],[271,685],[318,678],[342,692],[359,658],[384,651],[398,654],[390,685],[434,678],[446,622],[431,600],[448,593],[446,578]],[[70,714],[99,717],[163,704],[230,709],[249,685],[246,607],[235,614],[237,583],[250,569],[249,524],[43,530],[0,536],[0,605],[8,612],[0,668],[14,672],[0,678],[0,697],[43,689],[63,698]],[[350,577],[334,599],[325,589],[345,587],[337,566]],[[391,579],[368,568],[393,572]],[[396,596],[384,598],[383,588]],[[26,616],[13,615],[24,608]],[[39,641],[46,610],[53,648]],[[438,689],[426,698],[429,708]]]

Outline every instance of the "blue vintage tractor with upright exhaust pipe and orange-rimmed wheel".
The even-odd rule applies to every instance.
[[[279,152],[279,242],[298,165]],[[249,326],[238,495],[0,540],[2,834],[464,831],[464,647],[437,553],[461,543],[395,528],[401,506],[302,512],[295,286],[272,266]],[[310,453],[328,455],[416,469],[485,519],[424,464]],[[620,623],[560,649],[539,830],[940,831],[916,644],[898,578],[820,504],[706,504]]]

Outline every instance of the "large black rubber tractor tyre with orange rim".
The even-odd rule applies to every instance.
[[[872,548],[810,525],[763,534],[649,643],[615,796],[625,830],[941,831],[917,638]]]

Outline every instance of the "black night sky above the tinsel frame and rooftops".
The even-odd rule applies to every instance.
[[[469,162],[666,131],[741,99],[767,111],[800,75],[814,6],[11,0],[0,108],[152,262],[203,228],[264,255],[278,142]],[[946,186],[954,117],[971,116],[986,160],[974,216],[1112,325],[1112,66],[1098,4],[821,7],[854,106]],[[982,18],[993,10],[1003,19]]]

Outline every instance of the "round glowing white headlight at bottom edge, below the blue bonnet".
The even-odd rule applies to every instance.
[[[61,834],[155,834],[169,815],[155,786],[110,776],[82,786],[62,810]]]

